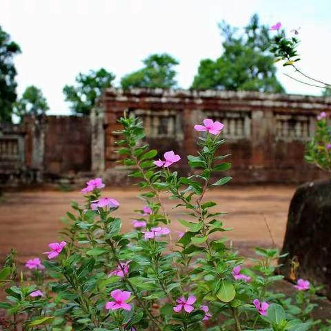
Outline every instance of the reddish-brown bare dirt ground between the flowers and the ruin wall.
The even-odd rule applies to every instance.
[[[254,245],[271,245],[268,229],[263,216],[268,220],[274,241],[283,243],[286,217],[293,187],[245,187],[225,188],[208,192],[208,201],[218,203],[217,209],[229,212],[224,223],[231,232],[225,232],[232,239],[232,245],[248,251]],[[132,218],[137,216],[132,210],[141,209],[136,190],[108,189],[105,196],[119,200],[117,211],[123,221],[123,230],[132,226]],[[60,217],[70,210],[70,201],[83,202],[79,192],[11,192],[0,201],[0,259],[15,248],[21,259],[40,256],[47,244],[57,241],[61,230]],[[179,211],[171,209],[172,201],[164,199],[165,208],[174,219],[172,231],[183,230],[176,218],[184,218]],[[176,236],[176,233],[173,234]]]

